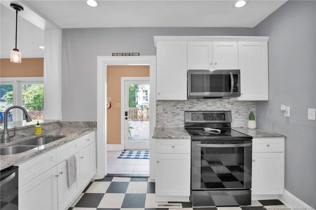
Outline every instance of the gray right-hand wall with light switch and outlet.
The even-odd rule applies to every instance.
[[[257,126],[287,135],[285,189],[316,208],[316,1],[287,1],[254,28],[269,39],[269,101],[257,102]],[[280,105],[291,107],[284,117]]]

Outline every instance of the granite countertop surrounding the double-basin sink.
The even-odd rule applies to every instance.
[[[1,143],[0,148],[9,146],[18,142],[22,142],[25,140],[34,139],[36,137],[41,136],[65,136],[59,140],[52,141],[50,143],[44,144],[39,147],[39,149],[32,149],[26,152],[17,153],[14,155],[0,155],[0,170],[5,169],[6,167],[20,164],[31,157],[34,157],[38,154],[44,153],[48,150],[51,150],[57,146],[63,145],[72,140],[78,139],[81,136],[84,136],[91,131],[95,131],[96,128],[74,128],[74,127],[57,127],[51,130],[44,131],[41,135],[27,135],[21,138],[13,138],[8,143]]]

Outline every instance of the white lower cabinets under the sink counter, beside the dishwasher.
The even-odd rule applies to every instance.
[[[86,140],[90,144],[86,144]],[[77,142],[76,142],[77,141]],[[69,147],[69,145],[72,145]],[[81,150],[74,145],[84,145]],[[69,148],[69,149],[68,149]],[[76,155],[77,159],[77,181],[68,187],[67,185],[67,168],[66,160],[57,161],[58,165],[54,165],[49,170],[38,175],[34,175],[31,181],[24,183],[23,180],[29,180],[23,176],[28,170],[28,167],[43,168],[42,165],[47,165],[51,161],[56,160],[59,156],[58,151],[63,151],[68,157]],[[76,152],[76,153],[74,153]],[[42,158],[45,158],[40,162]],[[65,158],[68,158],[65,156]],[[82,157],[82,158],[81,158]],[[19,165],[22,170],[19,170],[19,176],[22,175],[22,182],[19,183],[19,210],[66,210],[76,200],[80,192],[89,183],[96,173],[96,158],[95,158],[95,132],[91,132],[77,140],[66,143],[56,149],[52,149],[43,153],[29,161]]]

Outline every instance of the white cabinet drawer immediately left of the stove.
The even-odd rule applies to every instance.
[[[191,153],[191,140],[190,139],[156,139],[155,140],[156,153]]]

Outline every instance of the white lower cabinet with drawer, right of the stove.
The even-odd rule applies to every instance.
[[[284,193],[284,138],[254,138],[252,194]]]

